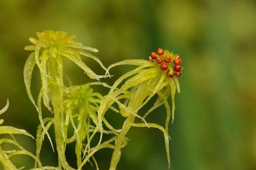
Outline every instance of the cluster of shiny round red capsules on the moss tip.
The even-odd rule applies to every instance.
[[[163,55],[166,53],[167,55]],[[171,59],[171,55],[172,54],[169,51],[163,51],[162,48],[158,48],[156,52],[151,52],[149,61],[160,64],[161,70],[167,70],[167,75],[170,77],[181,76],[180,55],[176,55],[176,58],[174,59]],[[171,64],[171,61],[173,62],[173,65]]]

